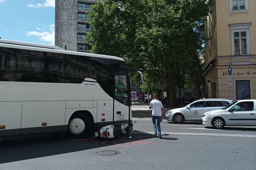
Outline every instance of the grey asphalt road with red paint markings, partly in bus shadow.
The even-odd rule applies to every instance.
[[[142,111],[141,111],[142,112]],[[0,169],[230,169],[256,167],[256,127],[215,130],[200,122],[161,123],[163,139],[153,136],[151,120],[136,120],[132,139],[68,139],[37,135],[0,140]],[[102,156],[97,152],[120,153]]]

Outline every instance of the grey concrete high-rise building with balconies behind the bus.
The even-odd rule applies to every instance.
[[[55,1],[55,45],[70,51],[88,52],[84,37],[90,31],[87,12],[97,0]]]

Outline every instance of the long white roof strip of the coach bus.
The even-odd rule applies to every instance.
[[[71,55],[73,54],[73,55],[88,56],[88,57],[109,58],[109,59],[116,59],[116,60],[124,61],[124,59],[115,57],[115,56],[91,54],[91,53],[76,52],[76,51],[66,51],[60,47],[53,46],[53,45],[26,43],[26,42],[13,41],[13,40],[0,39],[0,47],[6,47],[6,48],[9,47],[9,48],[16,48],[16,49],[45,51],[45,52],[55,52],[55,53],[71,54]]]

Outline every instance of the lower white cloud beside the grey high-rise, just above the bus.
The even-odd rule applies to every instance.
[[[37,32],[37,31],[27,31],[27,36],[37,36],[40,40],[49,42],[51,45],[54,45],[55,41],[55,25],[52,24],[49,26],[50,32]]]

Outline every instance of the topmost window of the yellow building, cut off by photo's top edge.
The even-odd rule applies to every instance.
[[[229,13],[249,12],[248,0],[229,0]]]

